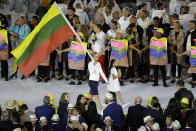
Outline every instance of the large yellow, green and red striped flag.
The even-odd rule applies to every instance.
[[[37,27],[12,51],[24,76],[28,77],[53,50],[74,36],[69,25],[54,3]]]

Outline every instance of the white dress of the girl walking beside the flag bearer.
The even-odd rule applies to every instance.
[[[118,78],[113,79],[113,75],[117,76],[118,72],[116,68],[112,67],[110,71],[110,78],[109,78],[109,84],[107,86],[107,90],[111,92],[118,92],[120,91],[120,84]]]

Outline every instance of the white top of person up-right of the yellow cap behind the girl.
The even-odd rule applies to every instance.
[[[130,18],[131,18],[131,16],[129,16],[129,17],[125,20],[124,16],[122,16],[122,17],[120,17],[120,19],[118,20],[118,25],[119,25],[120,30],[122,30],[122,32],[123,32],[123,37],[125,37],[126,34],[127,34],[126,30],[127,30],[127,27],[128,27],[129,24],[130,24]]]

